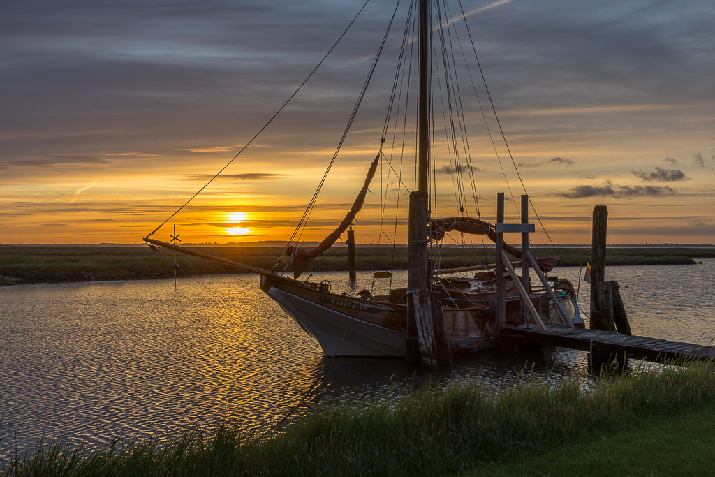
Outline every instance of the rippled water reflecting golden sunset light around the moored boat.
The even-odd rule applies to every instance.
[[[576,284],[578,268],[557,271]],[[320,277],[341,290],[346,275]],[[714,277],[715,260],[606,270],[621,285],[634,334],[690,343],[715,338]],[[404,280],[398,274],[394,285]],[[372,285],[362,273],[355,289]],[[588,290],[582,284],[584,310]],[[173,280],[2,288],[0,355],[0,460],[43,434],[95,445],[221,421],[261,430],[325,400],[435,378],[401,359],[324,358],[250,275],[184,278],[176,291]],[[460,357],[437,378],[480,371],[498,386],[527,360],[548,379],[586,375],[586,355],[559,348]]]

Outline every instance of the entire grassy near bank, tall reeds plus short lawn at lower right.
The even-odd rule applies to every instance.
[[[537,375],[495,393],[478,376],[403,398],[320,405],[263,435],[235,426],[169,443],[40,443],[7,476],[709,475],[715,366],[596,385]],[[660,446],[664,446],[661,448]],[[671,456],[672,458],[670,458]]]

